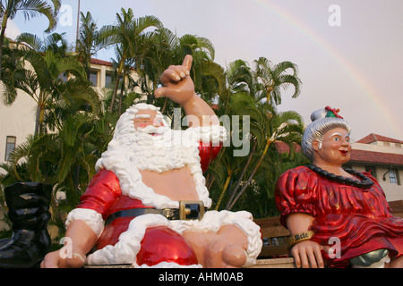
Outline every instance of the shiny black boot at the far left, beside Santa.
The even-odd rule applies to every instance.
[[[38,182],[21,182],[4,188],[13,236],[2,240],[1,268],[38,267],[50,250],[47,223],[52,187]],[[4,243],[6,242],[6,243]]]

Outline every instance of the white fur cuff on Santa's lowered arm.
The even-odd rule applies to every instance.
[[[91,230],[95,232],[97,237],[104,231],[105,222],[102,215],[89,208],[74,208],[68,215],[65,226],[69,226],[75,220],[81,220],[90,226]]]

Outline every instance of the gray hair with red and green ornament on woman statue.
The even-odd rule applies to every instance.
[[[329,107],[319,109],[311,114],[311,124],[306,127],[302,139],[301,147],[306,156],[311,161],[313,160],[313,141],[318,140],[322,146],[323,136],[326,132],[341,128],[347,130],[348,134],[351,131],[350,125],[339,114]]]

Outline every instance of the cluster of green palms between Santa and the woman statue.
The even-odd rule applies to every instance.
[[[255,213],[254,208],[266,209],[261,206],[272,199],[272,186],[279,177],[279,173],[274,172],[274,164],[279,158],[273,143],[299,144],[304,132],[304,122],[299,114],[293,111],[278,113],[274,105],[280,102],[279,86],[286,83],[284,77],[289,69],[293,71],[289,76],[295,79],[294,97],[297,97],[300,80],[294,63],[284,62],[273,66],[261,57],[254,61],[254,69],[243,60],[228,64],[227,84],[219,93],[217,113],[229,115],[232,139],[234,135],[237,136],[234,129],[239,130],[240,134],[244,134],[244,144],[248,143],[250,149],[246,156],[234,156],[237,148],[226,147],[219,159],[210,166],[207,185],[216,209],[230,210],[246,206],[239,200],[250,198],[253,194],[266,194],[268,197],[260,203],[258,200],[257,205],[247,205],[246,209]],[[242,126],[242,120],[239,123],[237,120],[245,116],[249,118],[246,127]],[[273,156],[278,159],[273,161]],[[262,211],[259,213],[266,214]]]

